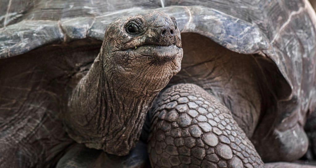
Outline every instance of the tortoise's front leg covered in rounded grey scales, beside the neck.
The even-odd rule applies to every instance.
[[[230,111],[201,87],[174,85],[152,110],[152,167],[264,167]]]

